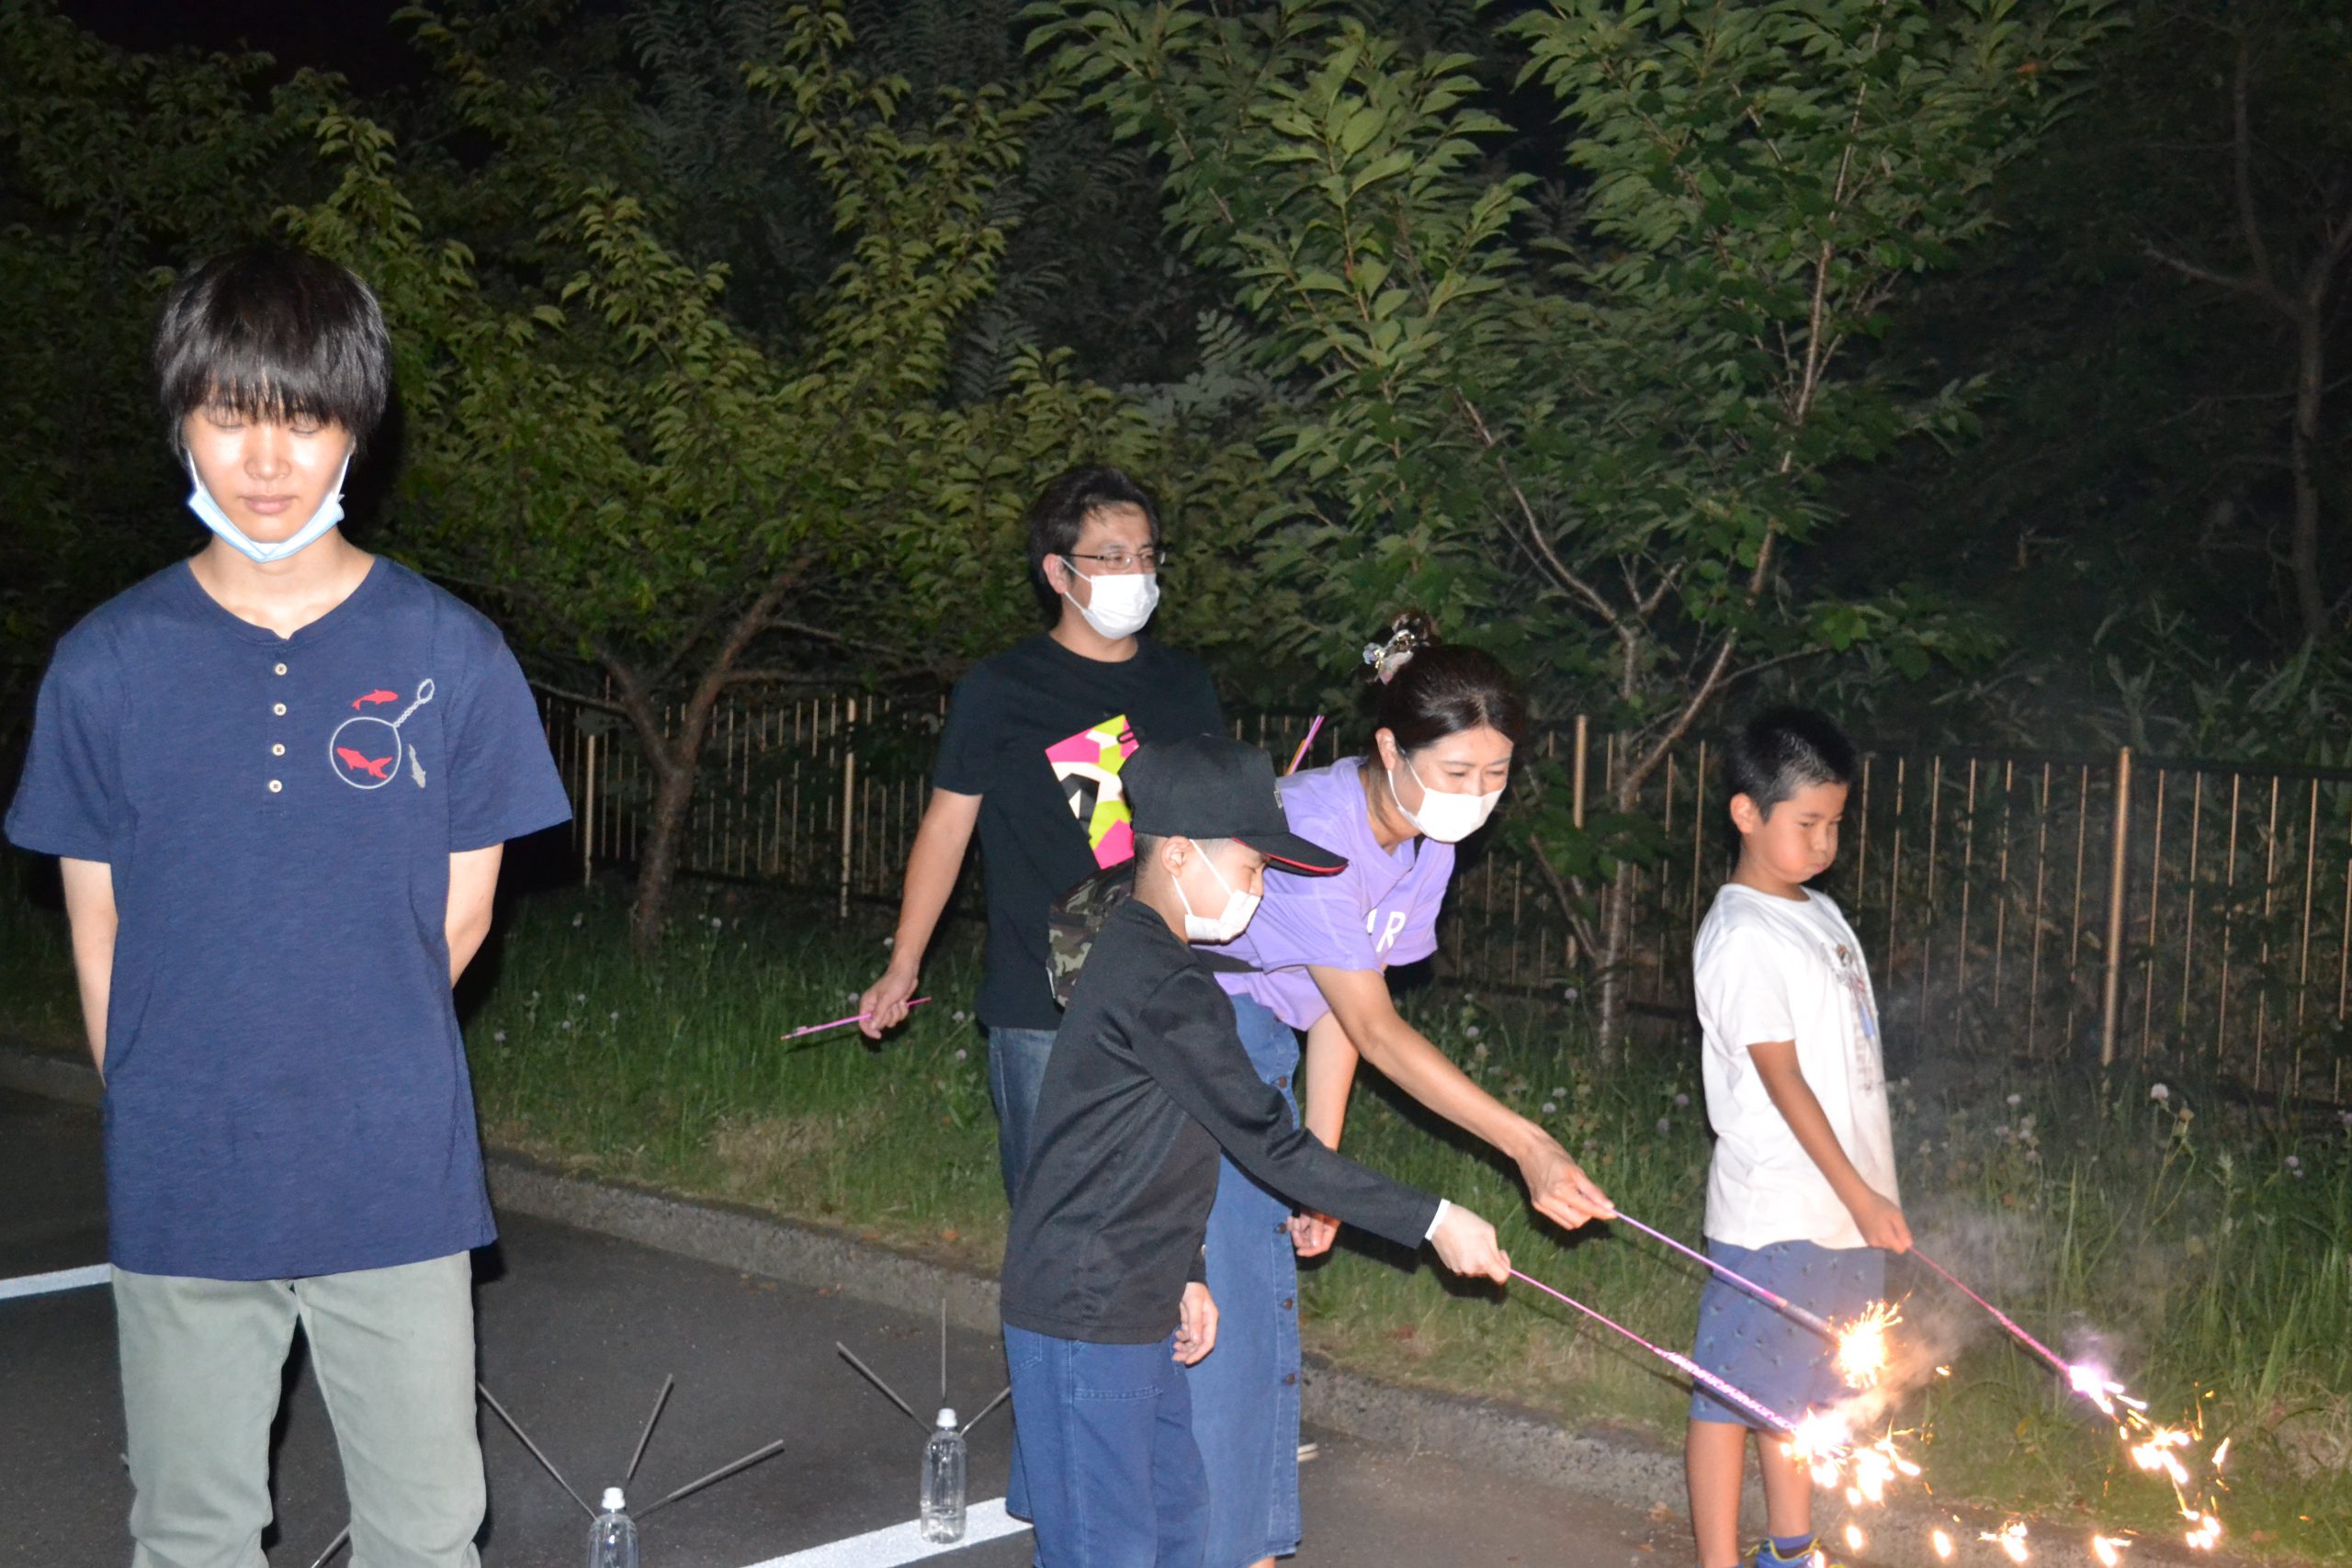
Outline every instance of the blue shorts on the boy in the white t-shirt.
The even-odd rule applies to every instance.
[[[1748,1248],[1708,1237],[1708,1258],[1832,1324],[1860,1316],[1870,1302],[1886,1298],[1886,1253],[1875,1246],[1773,1241]],[[1837,1375],[1828,1340],[1715,1272],[1698,1293],[1691,1361],[1788,1420],[1853,1392]],[[1724,1403],[1705,1385],[1691,1389],[1691,1420],[1757,1425],[1752,1413]]]

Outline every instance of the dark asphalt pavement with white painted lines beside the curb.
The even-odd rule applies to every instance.
[[[0,1093],[0,1288],[106,1258],[96,1114]],[[847,1342],[915,1408],[936,1403],[938,1324],[590,1232],[510,1218],[475,1265],[482,1380],[595,1497],[619,1481],[663,1375],[661,1425],[630,1486],[640,1505],[771,1439],[783,1450],[642,1523],[647,1568],[889,1568],[906,1549],[858,1537],[915,1514],[922,1432],[835,1354]],[[1004,1387],[995,1338],[953,1333],[950,1403]],[[1679,1521],[1496,1481],[1432,1455],[1308,1432],[1298,1568],[1684,1561]],[[1004,1495],[1011,1422],[971,1434],[971,1500]],[[0,1300],[0,1561],[129,1561],[122,1403],[103,1286]],[[492,1568],[569,1568],[586,1519],[487,1410]],[[270,1561],[308,1563],[343,1526],[334,1436],[296,1349],[275,1446]],[[795,1554],[802,1554],[795,1559]],[[348,1563],[348,1556],[339,1556]],[[1025,1533],[929,1559],[1018,1568]],[[1216,1566],[1211,1566],[1216,1568]]]

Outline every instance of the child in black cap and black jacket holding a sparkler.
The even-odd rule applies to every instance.
[[[1322,1147],[1249,1065],[1221,961],[1263,870],[1345,860],[1289,832],[1265,752],[1195,736],[1124,769],[1136,893],[1054,1037],[1004,1246],[1004,1356],[1040,1568],[1200,1568],[1204,1481],[1176,1363],[1216,1347],[1202,1232],[1218,1150],[1256,1180],[1456,1274],[1505,1279],[1494,1227]]]

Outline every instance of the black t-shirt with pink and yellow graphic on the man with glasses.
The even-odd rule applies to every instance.
[[[981,1023],[1056,1030],[1047,907],[1134,853],[1117,769],[1143,741],[1221,733],[1216,686],[1190,654],[1136,639],[1124,663],[1047,635],[983,658],[955,684],[931,783],[981,797],[988,971]]]

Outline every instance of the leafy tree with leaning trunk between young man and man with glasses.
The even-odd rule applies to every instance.
[[[541,689],[635,736],[654,799],[633,929],[652,945],[720,703],[936,682],[1000,646],[1035,616],[1018,520],[1051,473],[1094,458],[1160,480],[1200,562],[1178,618],[1225,614],[1249,541],[1218,520],[1258,508],[1258,465],[1223,428],[1247,425],[1261,383],[1209,353],[1183,383],[1115,393],[1063,350],[1009,343],[985,393],[955,397],[960,334],[1000,282],[1000,197],[1056,89],[913,94],[861,68],[842,5],[786,12],[736,85],[762,160],[790,165],[833,230],[783,252],[823,261],[788,306],[739,320],[729,270],[670,233],[717,212],[720,165],[663,141],[612,68],[623,35],[567,33],[548,63],[539,40],[567,14],[407,12],[442,85],[379,118],[329,78],[266,89],[268,61],[129,56],[7,0],[7,127],[54,226],[52,296],[82,287],[56,266],[80,235],[153,235],[132,256],[155,268],[268,214],[376,287],[400,390],[386,534],[499,609]],[[713,183],[663,183],[680,172]],[[223,212],[247,223],[186,216]],[[143,339],[146,301],[111,303],[108,331]],[[136,409],[136,353],[120,357],[106,383]],[[87,378],[52,369],[52,393]],[[56,456],[24,482],[56,489]]]

